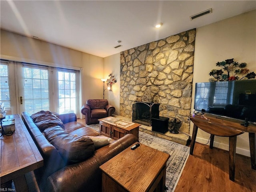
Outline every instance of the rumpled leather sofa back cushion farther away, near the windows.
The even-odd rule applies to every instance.
[[[32,114],[30,117],[42,132],[50,126],[60,126],[64,128],[63,122],[50,111],[42,110]]]

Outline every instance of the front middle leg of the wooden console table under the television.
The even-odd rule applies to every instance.
[[[235,180],[236,136],[229,137],[229,179]]]

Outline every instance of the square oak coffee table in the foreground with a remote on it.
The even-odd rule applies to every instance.
[[[164,192],[170,154],[144,144],[130,147],[100,166],[102,192]]]

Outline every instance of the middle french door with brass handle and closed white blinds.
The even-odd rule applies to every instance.
[[[20,113],[54,110],[50,99],[53,92],[50,86],[50,82],[53,82],[51,67],[17,63],[17,77]]]

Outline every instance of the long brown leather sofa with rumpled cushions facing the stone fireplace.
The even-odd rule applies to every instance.
[[[102,172],[99,166],[134,144],[138,139],[132,134],[127,134],[118,140],[112,140],[110,144],[96,148],[90,139],[100,136],[96,130],[76,122],[74,113],[60,114],[57,117],[61,120],[61,122],[56,121],[57,126],[56,124],[51,125],[52,120],[44,120],[44,131],[42,132],[42,126],[38,125],[36,118],[29,116],[27,112],[22,113],[22,120],[44,159],[44,166],[34,171],[40,191],[100,192],[102,189]],[[56,133],[54,132],[55,130]],[[49,134],[52,134],[52,137],[46,139]],[[63,138],[63,135],[64,137],[68,135],[68,138],[71,137],[72,140],[79,137],[86,139],[88,147],[84,150],[79,150],[79,152],[88,152],[88,157],[84,160],[78,160],[78,162],[68,161],[59,149],[59,146],[65,147],[67,144],[63,143],[59,146],[52,144],[54,143],[54,138]],[[74,150],[72,150],[71,154],[73,152]]]

